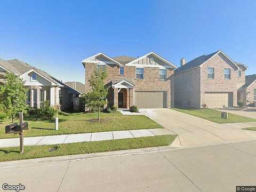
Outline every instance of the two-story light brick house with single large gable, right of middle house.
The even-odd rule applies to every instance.
[[[175,70],[175,107],[210,108],[237,106],[243,98],[247,67],[234,62],[224,52],[202,55]],[[238,93],[239,92],[239,93]]]

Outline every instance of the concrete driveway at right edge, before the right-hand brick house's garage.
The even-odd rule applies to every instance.
[[[245,108],[223,108],[218,109],[220,111],[225,111],[235,115],[241,115],[244,117],[256,118],[256,108],[255,107],[245,107]]]

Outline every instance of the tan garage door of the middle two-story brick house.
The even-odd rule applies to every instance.
[[[166,91],[135,91],[135,105],[138,108],[166,108]]]

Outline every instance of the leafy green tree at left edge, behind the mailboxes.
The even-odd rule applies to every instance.
[[[26,105],[26,89],[22,79],[13,73],[6,73],[4,85],[0,85],[0,107],[6,117],[13,119]]]

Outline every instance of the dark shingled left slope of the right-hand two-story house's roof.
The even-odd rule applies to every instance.
[[[194,67],[201,66],[205,61],[210,59],[214,54],[218,53],[219,51],[216,51],[214,53],[211,53],[209,55],[202,55],[196,59],[193,59],[186,63],[185,65],[179,67],[178,69],[175,70],[175,73],[180,73],[181,71],[185,71]]]

